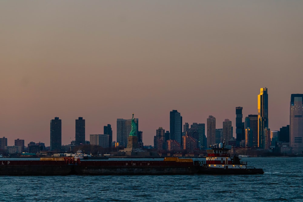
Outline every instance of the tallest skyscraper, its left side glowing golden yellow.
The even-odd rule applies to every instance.
[[[261,88],[258,94],[258,147],[266,148],[265,128],[268,128],[268,91]]]

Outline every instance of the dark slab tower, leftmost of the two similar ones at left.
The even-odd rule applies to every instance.
[[[61,151],[62,148],[62,124],[59,117],[51,120],[51,151]]]

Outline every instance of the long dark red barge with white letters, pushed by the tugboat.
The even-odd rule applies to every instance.
[[[74,157],[40,161],[0,161],[0,175],[189,175],[199,164],[192,159],[166,157],[164,161],[81,161]]]

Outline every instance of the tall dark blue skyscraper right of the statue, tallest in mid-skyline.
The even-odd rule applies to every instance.
[[[180,112],[177,110],[172,110],[169,113],[169,129],[170,129],[170,139],[177,141],[182,144],[182,117]]]

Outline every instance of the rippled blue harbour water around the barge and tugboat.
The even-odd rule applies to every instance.
[[[0,201],[303,201],[303,157],[242,160],[265,173],[0,176]]]

